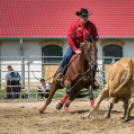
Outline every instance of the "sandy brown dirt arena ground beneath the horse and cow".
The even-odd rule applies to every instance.
[[[81,116],[90,108],[89,100],[75,100],[69,112],[58,111],[53,100],[44,114],[38,109],[39,102],[1,102],[0,101],[0,134],[134,134],[134,110],[131,120],[122,123],[122,103],[114,106],[111,119],[105,119],[108,101],[103,101],[100,108],[86,120]]]

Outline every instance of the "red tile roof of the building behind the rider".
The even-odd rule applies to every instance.
[[[134,0],[1,0],[0,37],[65,37],[81,8],[102,37],[134,37]]]

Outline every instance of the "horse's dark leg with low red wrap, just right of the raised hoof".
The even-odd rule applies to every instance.
[[[80,90],[73,90],[70,94],[68,100],[65,103],[64,112],[68,111],[68,107],[70,106],[71,102],[77,97]]]

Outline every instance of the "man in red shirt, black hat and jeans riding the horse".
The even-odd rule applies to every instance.
[[[56,77],[56,81],[60,82],[63,76],[63,68],[67,65],[73,54],[80,54],[80,43],[87,40],[90,36],[93,37],[94,41],[98,40],[98,32],[95,25],[88,20],[91,13],[88,13],[87,9],[82,8],[81,11],[77,11],[76,15],[79,19],[72,23],[67,34],[67,42],[69,47],[62,59],[59,67],[59,72]],[[95,77],[95,71],[94,71]],[[97,87],[98,83],[94,81],[94,87]]]

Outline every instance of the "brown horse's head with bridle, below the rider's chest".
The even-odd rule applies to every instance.
[[[85,41],[83,45],[84,53],[85,53],[85,60],[89,61],[89,64],[92,69],[96,69],[98,66],[97,63],[97,46],[93,39],[90,41]]]

